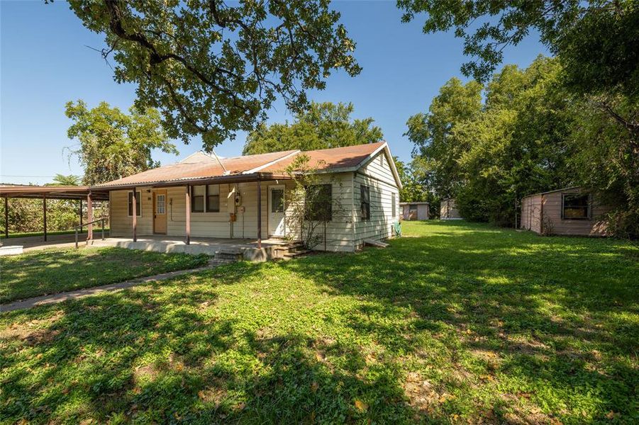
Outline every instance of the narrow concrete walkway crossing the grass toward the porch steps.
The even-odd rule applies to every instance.
[[[94,286],[93,288],[72,290],[65,293],[57,293],[52,295],[42,295],[41,297],[27,298],[26,300],[10,302],[9,304],[0,305],[0,312],[11,312],[13,310],[22,310],[25,308],[36,307],[38,305],[57,304],[66,300],[77,300],[83,297],[89,297],[90,295],[96,295],[107,291],[116,291],[126,288],[130,288],[140,283],[152,282],[154,280],[167,280],[174,278],[175,276],[182,276],[187,273],[196,273],[198,271],[209,270],[210,268],[217,267],[223,264],[221,261],[211,261],[208,266],[191,268],[189,270],[171,271],[169,273],[162,273],[155,276],[148,276],[146,278],[137,278],[133,280],[126,280],[120,283],[109,283],[109,285]]]

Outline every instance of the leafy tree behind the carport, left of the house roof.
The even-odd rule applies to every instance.
[[[129,114],[109,103],[87,108],[84,101],[68,102],[66,114],[74,123],[67,134],[79,141],[71,154],[84,166],[83,183],[93,186],[159,166],[153,149],[177,154],[160,125],[160,113],[133,106]]]

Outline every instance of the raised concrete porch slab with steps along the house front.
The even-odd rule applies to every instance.
[[[182,237],[165,235],[145,235],[133,238],[109,237],[94,239],[91,246],[118,246],[128,249],[141,249],[156,252],[183,252],[185,254],[206,254],[216,259],[235,259],[248,261],[267,261],[282,259],[295,249],[296,243],[285,239],[223,239],[211,237],[191,237],[189,242]]]

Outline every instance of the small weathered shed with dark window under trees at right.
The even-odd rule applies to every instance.
[[[535,193],[521,200],[521,229],[538,234],[606,236],[601,216],[610,210],[594,193],[572,187]]]

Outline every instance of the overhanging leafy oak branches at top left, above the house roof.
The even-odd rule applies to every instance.
[[[167,134],[201,135],[210,149],[266,118],[277,96],[291,111],[324,89],[334,69],[361,68],[355,42],[327,0],[70,2],[105,35],[118,83],[137,84],[135,106],[158,108]]]

